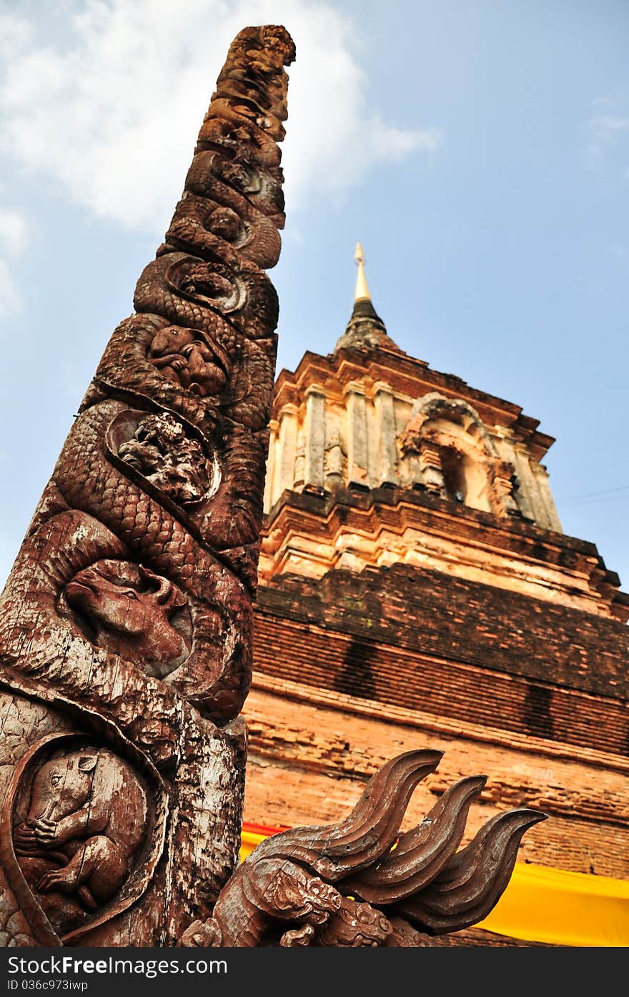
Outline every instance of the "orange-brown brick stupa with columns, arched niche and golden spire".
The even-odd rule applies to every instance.
[[[337,820],[383,761],[426,745],[446,754],[410,819],[488,772],[471,832],[538,807],[551,820],[521,862],[627,879],[629,597],[561,529],[553,439],[399,349],[360,245],[357,262],[334,351],[275,385],[245,821]]]

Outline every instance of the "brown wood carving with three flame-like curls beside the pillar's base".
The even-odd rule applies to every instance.
[[[419,947],[485,917],[510,877],[520,838],[545,814],[498,814],[461,843],[485,777],[460,780],[400,833],[418,783],[441,752],[407,752],[370,780],[338,825],[266,838],[234,872],[186,946]]]

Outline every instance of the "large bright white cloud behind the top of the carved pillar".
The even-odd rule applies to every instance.
[[[372,109],[355,28],[325,2],[84,0],[67,17],[63,50],[35,41],[37,24],[11,22],[3,147],[99,217],[163,231],[228,45],[247,24],[285,24],[297,46],[283,147],[291,212],[441,144],[439,129],[404,130]]]

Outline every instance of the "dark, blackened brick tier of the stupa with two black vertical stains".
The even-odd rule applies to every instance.
[[[629,628],[396,564],[260,586],[255,668],[352,696],[626,754]]]

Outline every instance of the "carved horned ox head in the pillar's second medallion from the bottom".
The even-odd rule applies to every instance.
[[[102,560],[79,571],[66,586],[70,606],[85,617],[94,643],[163,677],[188,652],[172,618],[185,605],[181,591],[147,568]]]

